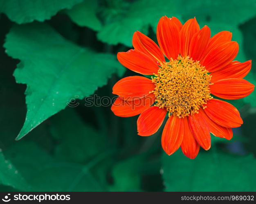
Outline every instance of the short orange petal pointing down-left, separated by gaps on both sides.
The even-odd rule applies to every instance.
[[[143,111],[137,120],[138,135],[149,136],[157,132],[166,113],[166,109],[159,109],[157,106],[151,106]]]

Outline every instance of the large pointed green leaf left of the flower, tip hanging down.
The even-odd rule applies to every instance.
[[[27,116],[17,139],[65,108],[83,99],[124,69],[111,54],[94,53],[65,40],[43,23],[15,26],[4,44],[9,56],[21,60],[16,82],[27,84]]]

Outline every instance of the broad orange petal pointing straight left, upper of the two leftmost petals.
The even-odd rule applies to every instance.
[[[143,76],[129,76],[122,78],[113,86],[113,92],[124,100],[137,100],[155,89],[152,80]]]

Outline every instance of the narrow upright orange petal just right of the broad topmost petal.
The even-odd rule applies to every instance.
[[[193,35],[200,30],[195,18],[187,20],[180,30],[180,54],[186,57],[189,54],[189,44]]]

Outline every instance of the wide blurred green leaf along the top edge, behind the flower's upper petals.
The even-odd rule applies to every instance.
[[[155,31],[159,18],[165,15],[182,17],[181,20],[184,21],[196,17],[202,25],[221,23],[233,26],[256,16],[254,0],[243,4],[240,0],[229,3],[223,0],[137,0],[131,4],[126,4],[125,1],[108,2],[108,6],[102,9],[105,24],[98,33],[98,38],[108,44],[123,43],[127,46],[131,46],[135,31],[147,34],[149,25]]]

